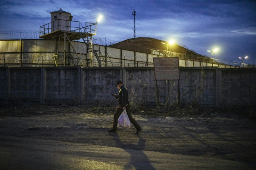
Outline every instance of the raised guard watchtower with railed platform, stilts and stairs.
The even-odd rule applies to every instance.
[[[54,50],[54,62],[55,66],[58,66],[58,58],[60,57],[60,52],[58,46],[61,42],[64,42],[64,51],[62,52],[64,58],[64,66],[66,65],[66,57],[70,54],[70,46],[77,56],[83,67],[84,63],[80,59],[80,55],[76,52],[72,41],[82,39],[85,43],[85,48],[87,48],[87,58],[90,58],[90,66],[94,66],[94,59],[98,61],[98,66],[101,67],[99,61],[99,50],[95,50],[93,46],[93,36],[96,35],[96,23],[85,23],[83,26],[82,23],[78,21],[73,21],[73,16],[70,12],[63,11],[62,9],[50,12],[51,22],[45,25],[40,26],[40,35],[41,39],[54,39],[55,40],[55,50]],[[68,42],[66,42],[68,40]],[[70,46],[67,47],[67,44]]]

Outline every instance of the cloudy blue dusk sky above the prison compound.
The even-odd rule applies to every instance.
[[[134,37],[175,40],[188,49],[214,58],[256,64],[256,1],[242,0],[0,0],[1,31],[39,31],[51,22],[50,12],[70,12],[74,21],[97,24],[105,42]]]

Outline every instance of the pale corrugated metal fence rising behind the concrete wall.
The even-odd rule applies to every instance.
[[[74,47],[71,48],[71,46]],[[95,57],[91,57],[83,42],[74,41],[72,44],[56,40],[0,40],[0,66],[7,67],[49,67],[55,66],[99,66]],[[94,45],[100,51],[99,62],[103,67],[153,67],[154,57],[165,57],[162,53],[149,54],[128,51],[109,46]],[[64,50],[66,51],[64,53]],[[57,57],[56,57],[57,54]],[[64,60],[64,56],[66,56]],[[64,64],[65,62],[65,64]],[[239,67],[226,65],[222,62],[206,62],[200,58],[194,60],[179,59],[180,67],[213,66],[218,68]]]

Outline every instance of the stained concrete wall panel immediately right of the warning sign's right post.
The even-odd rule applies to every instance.
[[[181,102],[184,104],[215,105],[216,69],[193,67],[180,69]]]

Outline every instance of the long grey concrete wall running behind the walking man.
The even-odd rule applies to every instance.
[[[0,67],[0,103],[116,105],[122,80],[133,105],[255,106],[256,68],[180,67],[180,80],[158,80],[152,67]]]

